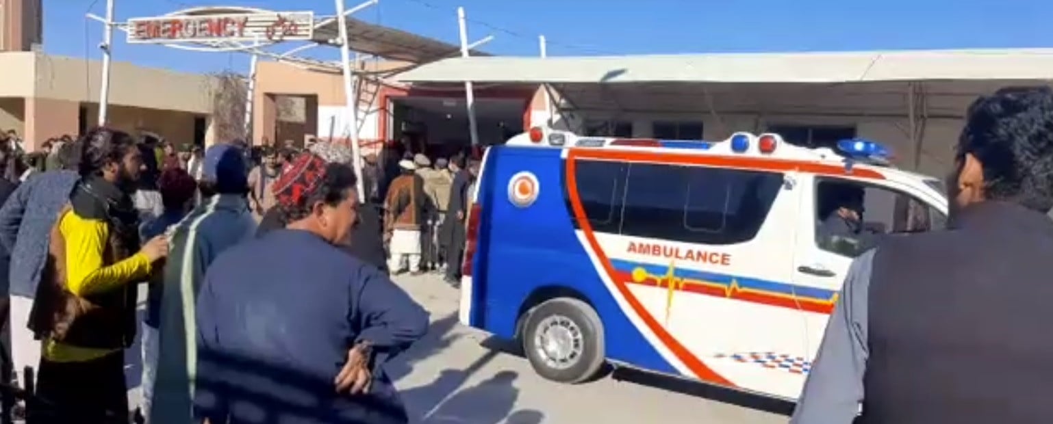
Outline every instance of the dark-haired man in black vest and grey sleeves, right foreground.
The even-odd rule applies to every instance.
[[[948,187],[853,263],[791,423],[1053,420],[1053,90],[974,102]]]

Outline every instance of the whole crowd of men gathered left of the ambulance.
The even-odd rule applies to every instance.
[[[20,398],[5,411],[29,424],[406,422],[382,365],[429,318],[389,274],[459,280],[477,161],[396,144],[363,158],[359,199],[336,144],[180,153],[98,127],[27,154],[4,134],[13,381],[0,384]],[[143,399],[128,405],[137,337]]]

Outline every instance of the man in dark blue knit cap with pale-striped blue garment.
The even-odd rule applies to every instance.
[[[202,202],[170,230],[172,255],[164,266],[160,356],[151,401],[153,424],[191,422],[197,367],[194,303],[204,271],[227,247],[252,238],[245,156],[232,144],[205,150],[198,188]]]

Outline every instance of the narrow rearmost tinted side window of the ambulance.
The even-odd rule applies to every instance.
[[[618,162],[575,163],[578,198],[594,231],[618,234],[627,168],[628,165]]]

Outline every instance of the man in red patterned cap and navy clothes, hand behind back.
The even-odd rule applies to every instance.
[[[208,268],[185,422],[409,421],[384,364],[426,332],[428,312],[339,247],[358,218],[356,182],[346,163],[300,155],[275,182],[285,227]]]

